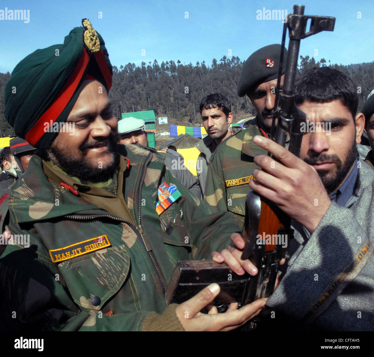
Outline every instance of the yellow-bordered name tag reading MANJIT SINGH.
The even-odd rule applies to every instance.
[[[78,257],[79,255],[91,253],[95,250],[111,246],[107,235],[83,240],[83,242],[65,246],[64,248],[49,251],[53,263]]]

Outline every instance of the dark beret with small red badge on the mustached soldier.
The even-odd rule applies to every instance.
[[[281,56],[281,45],[269,45],[252,53],[243,64],[237,84],[237,95],[245,96],[255,85],[272,81],[278,77],[279,58]],[[285,73],[287,62],[287,49],[283,52],[283,69]]]

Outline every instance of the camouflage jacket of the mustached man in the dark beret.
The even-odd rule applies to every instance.
[[[253,143],[261,135],[257,125],[239,131],[222,142],[215,151],[206,176],[204,201],[213,212],[229,211],[239,223],[244,224],[245,197],[253,170],[259,169],[253,159],[267,152]]]

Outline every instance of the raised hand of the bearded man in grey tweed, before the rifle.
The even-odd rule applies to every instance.
[[[254,162],[265,171],[254,170],[256,181],[251,180],[249,187],[274,202],[312,234],[331,205],[317,171],[273,140],[255,136],[253,142],[281,162],[257,155]]]

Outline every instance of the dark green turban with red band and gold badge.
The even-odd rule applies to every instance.
[[[38,49],[17,64],[5,87],[5,118],[17,136],[48,148],[66,122],[85,79],[97,79],[107,92],[112,66],[102,37],[88,19],[64,43]],[[53,130],[49,130],[52,128]]]

